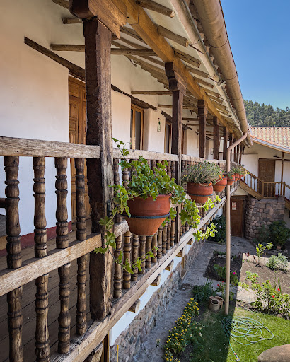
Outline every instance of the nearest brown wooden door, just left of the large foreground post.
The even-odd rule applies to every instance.
[[[69,78],[69,141],[72,144],[86,144],[86,88],[83,82]],[[88,180],[86,178],[86,216],[90,217]],[[76,221],[76,169],[71,159],[71,220]]]

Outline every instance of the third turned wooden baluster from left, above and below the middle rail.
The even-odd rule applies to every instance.
[[[66,168],[67,158],[55,158],[55,167],[57,168],[57,180],[55,182],[57,194],[57,248],[65,249],[69,246],[69,228],[67,223],[67,180]],[[67,263],[59,267],[59,354],[66,354],[69,351],[70,324],[71,316],[69,314],[69,269],[71,264]]]

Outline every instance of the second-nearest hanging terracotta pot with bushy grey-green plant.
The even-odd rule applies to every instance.
[[[187,194],[192,201],[204,204],[214,193],[213,184],[220,180],[221,175],[222,171],[216,163],[197,163],[185,170],[182,185],[187,184]]]

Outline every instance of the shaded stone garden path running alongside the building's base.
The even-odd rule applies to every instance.
[[[205,269],[207,269],[207,264],[211,259],[214,250],[221,252],[226,252],[225,244],[217,244],[214,242],[206,242],[202,246],[202,249],[199,251],[197,258],[192,264],[192,267],[187,270],[187,274],[183,279],[183,282],[175,293],[175,296],[166,310],[166,315],[163,318],[160,318],[156,323],[156,326],[151,329],[151,332],[148,334],[146,341],[141,344],[141,349],[138,354],[134,356],[132,362],[163,362],[163,350],[156,346],[157,340],[160,340],[160,346],[165,344],[168,337],[168,331],[173,327],[175,320],[177,320],[183,313],[185,306],[187,305],[190,298],[192,298],[192,286],[194,285],[203,285],[207,278],[204,277]],[[231,238],[231,255],[237,255],[238,252],[249,252],[250,254],[255,253],[255,247],[249,243],[248,240],[244,238],[232,237]],[[216,288],[216,285],[219,281],[213,281],[213,287]],[[236,290],[233,290],[236,292]],[[248,296],[240,296],[248,300]]]

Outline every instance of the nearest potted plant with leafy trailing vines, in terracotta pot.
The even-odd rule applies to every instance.
[[[167,175],[167,162],[164,165],[158,163],[157,167],[151,170],[147,160],[141,156],[138,160],[127,160],[126,157],[129,155],[129,151],[125,148],[124,142],[117,139],[114,139],[114,141],[122,155],[119,165],[122,170],[125,168],[130,170],[131,180],[126,187],[124,185],[111,186],[114,189],[114,208],[110,216],[100,219],[100,225],[105,226],[105,247],[98,247],[95,252],[104,254],[105,252],[111,252],[111,247],[116,248],[116,236],[112,228],[117,214],[124,215],[132,233],[153,235],[163,222],[165,223],[170,218],[177,217],[176,211],[170,207],[170,203],[182,203],[183,207],[178,215],[182,225],[188,223],[191,228],[197,230],[200,222],[199,209],[197,209],[195,202],[187,198],[185,189],[177,185],[174,178],[170,179]],[[216,197],[216,201],[220,201],[219,197]],[[203,206],[206,211],[213,207],[214,202],[211,199]],[[135,220],[131,223],[133,219]],[[193,236],[197,240],[205,239],[209,235],[214,235],[214,229],[214,224],[211,224],[204,233],[197,230],[193,233]],[[112,255],[115,262],[122,265],[129,273],[133,272],[132,268],[139,268],[140,270],[141,259],[146,259],[149,256],[153,256],[152,250],[129,264],[128,260],[122,261],[122,252],[120,252],[118,259],[115,259],[114,255]]]

